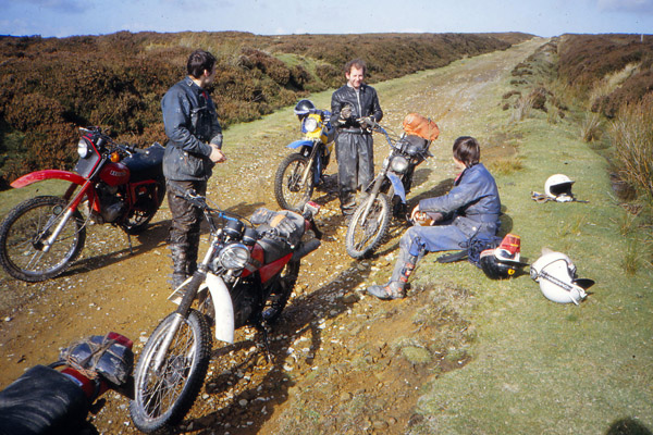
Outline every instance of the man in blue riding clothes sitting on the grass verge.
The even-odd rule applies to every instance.
[[[399,240],[399,258],[385,285],[368,287],[379,299],[406,296],[408,277],[424,252],[465,248],[473,237],[495,236],[501,226],[501,200],[494,177],[479,162],[481,156],[473,137],[461,136],[454,141],[454,162],[463,172],[452,190],[441,197],[419,201],[411,220],[428,213],[432,226],[412,226]]]

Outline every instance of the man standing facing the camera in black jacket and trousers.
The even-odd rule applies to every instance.
[[[366,121],[379,122],[383,117],[377,91],[362,83],[365,74],[362,60],[348,62],[347,84],[331,97],[331,119],[336,120],[337,127],[335,156],[341,210],[347,219],[356,209],[356,191],[365,189],[374,178],[373,140]]]

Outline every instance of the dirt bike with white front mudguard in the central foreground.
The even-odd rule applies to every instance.
[[[178,195],[204,211],[211,243],[197,271],[169,298],[178,308],[152,332],[134,371],[132,421],[147,433],[177,424],[197,398],[211,358],[209,324],[215,338],[229,344],[236,328],[255,325],[267,344],[267,327],[286,306],[301,258],[318,249],[321,238],[313,202],[303,214],[259,209],[246,227],[243,219],[209,207],[205,197]]]

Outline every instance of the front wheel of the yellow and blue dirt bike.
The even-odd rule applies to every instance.
[[[306,183],[301,183],[308,165],[309,159],[299,153],[287,156],[279,165],[274,176],[274,197],[282,209],[301,211],[310,200],[315,187],[312,169]]]

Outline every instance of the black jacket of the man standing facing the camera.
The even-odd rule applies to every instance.
[[[352,105],[352,116],[338,125],[337,120],[340,120],[341,111],[345,104]],[[379,104],[379,97],[373,87],[362,84],[360,85],[359,91],[356,92],[356,89],[352,86],[345,85],[331,96],[331,120],[336,122],[338,128],[360,128],[360,125],[358,125],[356,120],[366,116],[371,116],[377,122],[383,119],[383,111]]]

